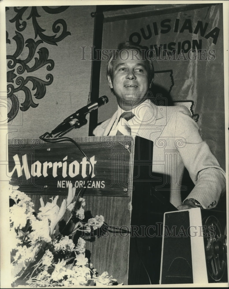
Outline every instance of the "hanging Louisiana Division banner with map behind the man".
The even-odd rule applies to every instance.
[[[189,105],[203,140],[225,169],[223,5],[143,5],[104,14],[100,95],[109,103],[98,111],[98,123],[117,109],[103,51],[132,41],[153,61],[154,97],[166,98],[165,105]]]

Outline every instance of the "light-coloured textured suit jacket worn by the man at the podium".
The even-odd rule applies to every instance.
[[[116,116],[117,112],[98,125],[94,135],[107,136]],[[198,125],[185,106],[147,105],[137,134],[154,142],[152,171],[164,174],[165,180],[168,176],[170,202],[174,206],[182,203],[184,167],[195,184],[187,198],[196,199],[205,209],[217,205],[226,190],[225,172],[202,140]]]

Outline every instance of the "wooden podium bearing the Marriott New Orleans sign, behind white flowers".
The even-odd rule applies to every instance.
[[[86,257],[99,274],[108,271],[124,285],[150,284],[149,277],[159,284],[163,214],[174,207],[154,192],[161,179],[152,175],[153,143],[132,136],[74,140],[93,166],[90,183],[80,195],[86,201],[85,212],[103,215],[110,226],[86,240]],[[77,195],[90,174],[89,162],[71,142],[14,138],[8,158],[11,184],[31,195],[36,211],[40,196],[46,203],[59,195],[60,205],[69,182],[75,184]]]

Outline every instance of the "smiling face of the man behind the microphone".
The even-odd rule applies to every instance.
[[[109,86],[113,88],[118,105],[124,110],[131,110],[143,102],[151,85],[147,62],[132,55],[133,51],[123,51],[121,59],[113,61],[113,81],[108,76]],[[140,56],[138,58],[141,59]]]

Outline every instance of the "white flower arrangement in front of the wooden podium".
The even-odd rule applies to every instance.
[[[9,195],[14,204],[10,207],[10,246],[12,287],[54,286],[104,286],[113,285],[116,279],[107,272],[98,275],[85,257],[85,240],[78,237],[77,244],[70,238],[76,231],[91,232],[104,223],[103,216],[84,219],[85,200],[72,203],[75,188],[70,184],[68,197],[59,208],[58,196],[44,204],[40,199],[39,213],[23,192],[9,186]],[[58,222],[66,209],[78,220],[69,236],[59,232]],[[117,283],[116,283],[117,284]]]

